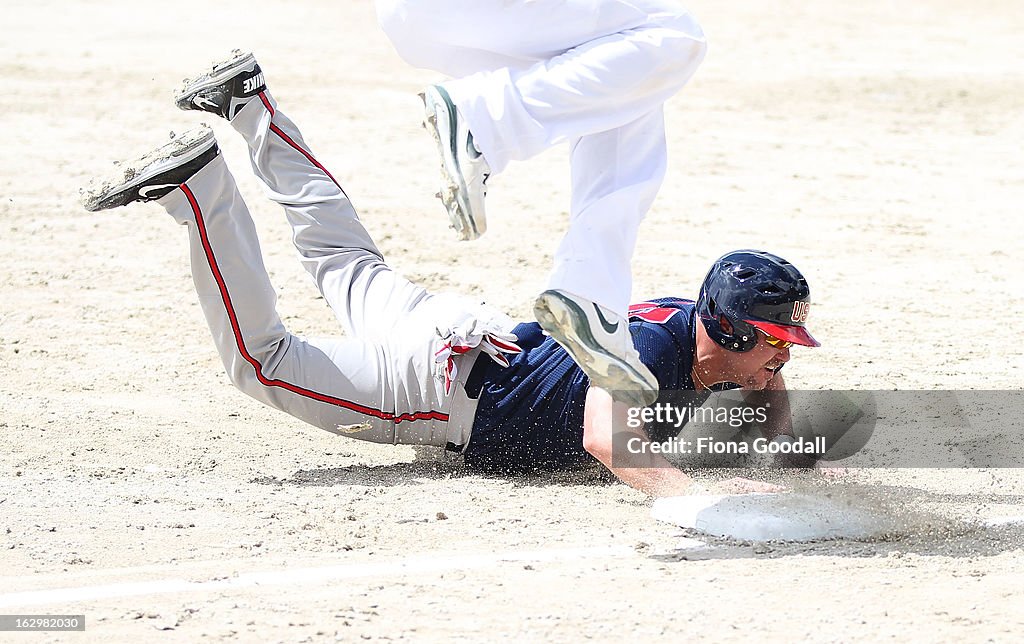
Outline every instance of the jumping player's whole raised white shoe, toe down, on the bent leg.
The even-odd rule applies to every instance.
[[[449,211],[452,227],[463,242],[487,229],[483,198],[490,167],[473,144],[469,126],[440,85],[431,85],[420,97],[425,112],[423,126],[437,143],[441,157],[441,189],[437,194]]]

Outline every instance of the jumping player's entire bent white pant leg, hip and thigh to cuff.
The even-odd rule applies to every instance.
[[[407,60],[463,77],[444,87],[494,173],[647,115],[707,48],[664,1],[378,0],[378,12]]]

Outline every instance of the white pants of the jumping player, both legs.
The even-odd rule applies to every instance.
[[[569,228],[550,288],[625,316],[637,230],[666,171],[663,104],[703,59],[672,0],[377,0],[398,54],[444,83],[495,173],[570,148]]]

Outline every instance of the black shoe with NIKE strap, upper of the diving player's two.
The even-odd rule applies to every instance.
[[[227,60],[217,62],[206,74],[187,79],[174,96],[182,110],[200,110],[228,121],[254,96],[266,89],[256,57],[236,49]]]

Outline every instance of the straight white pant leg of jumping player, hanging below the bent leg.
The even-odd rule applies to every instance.
[[[549,288],[626,316],[633,286],[630,260],[667,162],[660,108],[573,142],[569,227],[555,251]]]

